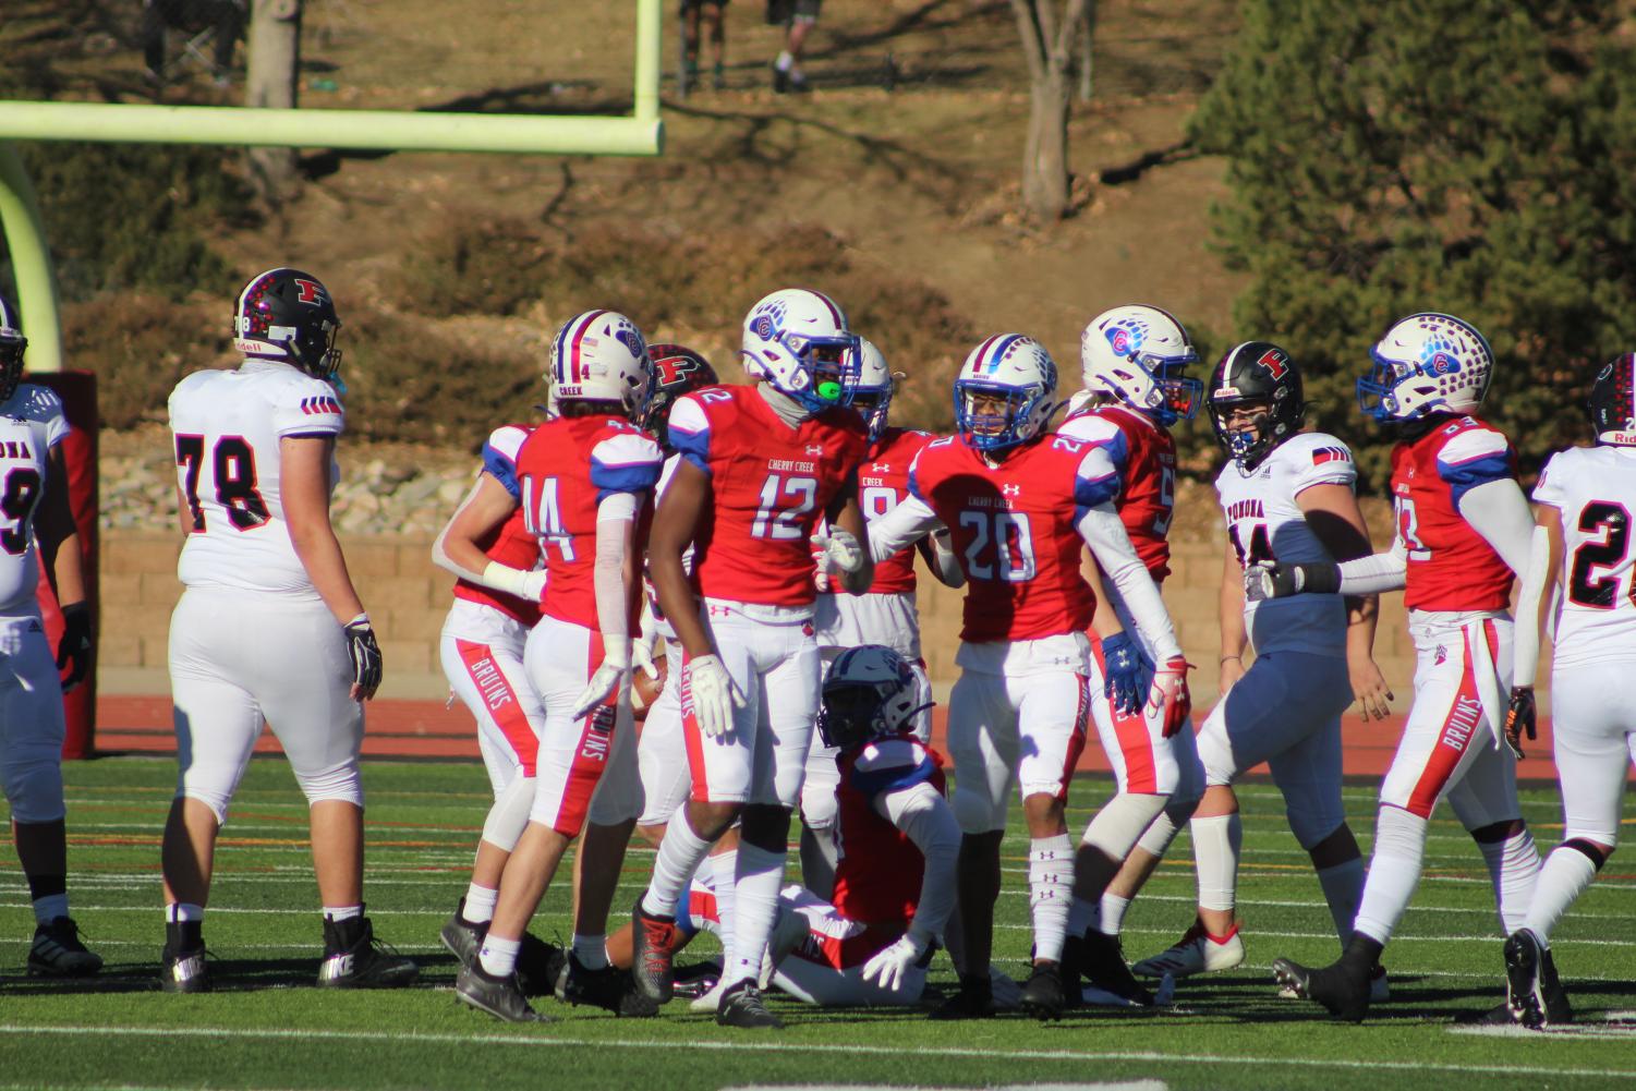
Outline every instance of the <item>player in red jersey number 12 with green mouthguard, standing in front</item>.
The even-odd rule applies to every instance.
[[[846,407],[857,337],[828,296],[787,288],[743,329],[751,386],[677,399],[669,440],[682,461],[653,525],[648,569],[682,643],[682,723],[692,800],[666,826],[653,882],[633,908],[631,977],[671,998],[676,906],[710,844],[741,821],[733,949],[717,1021],[777,1027],[756,975],[784,883],[790,813],[800,800],[818,705],[810,540],[820,517],[825,568],[852,594],[874,564],[857,505],[864,422]],[[694,548],[694,572],[682,553]]]

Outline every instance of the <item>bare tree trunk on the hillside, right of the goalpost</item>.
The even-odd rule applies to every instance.
[[[1075,43],[1091,25],[1094,0],[1011,0],[1029,70],[1022,206],[1040,219],[1068,211],[1068,98]]]

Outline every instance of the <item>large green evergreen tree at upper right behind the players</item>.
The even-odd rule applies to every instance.
[[[1247,0],[1193,118],[1230,159],[1216,244],[1242,339],[1304,365],[1309,415],[1379,479],[1353,381],[1397,317],[1448,311],[1497,371],[1485,415],[1536,468],[1636,350],[1636,47],[1593,0]],[[1629,29],[1629,28],[1623,28]]]

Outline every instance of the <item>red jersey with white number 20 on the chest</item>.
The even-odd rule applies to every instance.
[[[954,535],[967,581],[960,640],[1085,631],[1096,595],[1080,574],[1078,522],[1117,487],[1101,448],[1062,435],[1018,447],[1000,465],[957,435],[928,443],[910,471],[910,494]]]

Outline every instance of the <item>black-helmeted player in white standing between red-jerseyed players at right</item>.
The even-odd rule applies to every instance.
[[[1235,916],[1243,828],[1234,782],[1268,764],[1284,797],[1289,829],[1317,870],[1335,931],[1345,944],[1363,890],[1363,857],[1340,798],[1340,716],[1356,695],[1364,712],[1384,715],[1391,697],[1371,658],[1376,604],[1340,595],[1245,602],[1243,569],[1256,561],[1328,561],[1369,553],[1369,535],[1353,494],[1351,451],[1333,435],[1302,432],[1301,371],[1270,342],[1232,348],[1211,378],[1211,420],[1229,455],[1216,479],[1227,517],[1220,590],[1220,698],[1199,728],[1204,792],[1191,808],[1199,882],[1198,919],[1171,945],[1134,968],[1173,978],[1229,970],[1243,962]],[[1273,610],[1268,607],[1273,605]],[[1247,644],[1255,662],[1245,669]],[[1189,810],[1171,797],[1127,865],[1152,870]],[[1124,895],[1134,883],[1116,882]],[[1384,977],[1378,977],[1384,990]]]

